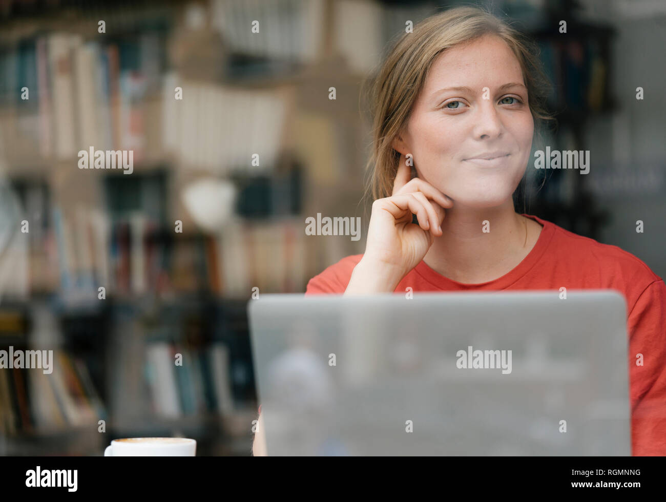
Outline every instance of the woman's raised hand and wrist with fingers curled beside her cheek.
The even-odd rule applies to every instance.
[[[366,252],[345,294],[393,292],[423,260],[435,237],[442,236],[444,208],[451,208],[452,200],[428,182],[410,178],[410,166],[401,155],[393,194],[372,204]],[[412,214],[418,225],[412,224]]]

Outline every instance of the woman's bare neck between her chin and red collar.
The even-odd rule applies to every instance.
[[[541,224],[517,214],[513,201],[498,208],[446,210],[442,237],[435,238],[424,262],[446,278],[480,284],[507,274],[529,254]]]

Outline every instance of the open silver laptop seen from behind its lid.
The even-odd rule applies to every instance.
[[[262,295],[268,455],[631,455],[614,290]]]

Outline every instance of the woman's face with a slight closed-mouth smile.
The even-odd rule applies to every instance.
[[[500,38],[486,36],[440,54],[406,132],[394,146],[411,153],[419,178],[459,206],[500,206],[520,182],[533,120],[520,65]],[[446,88],[468,89],[446,89]],[[476,156],[507,156],[470,160]]]

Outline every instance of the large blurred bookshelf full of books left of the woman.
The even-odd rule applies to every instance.
[[[328,259],[306,256],[312,183],[283,134],[304,65],[222,43],[197,21],[213,3],[55,4],[9,3],[0,17],[4,170],[30,225],[29,296],[3,296],[0,324],[15,316],[17,333],[0,349],[53,350],[57,361],[48,376],[0,372],[0,455],[101,455],[135,435],[249,455],[252,288],[302,292]],[[243,148],[254,130],[268,148]],[[79,170],[89,146],[132,149],[134,172]],[[238,191],[217,232],[184,207],[182,188],[202,177]]]

